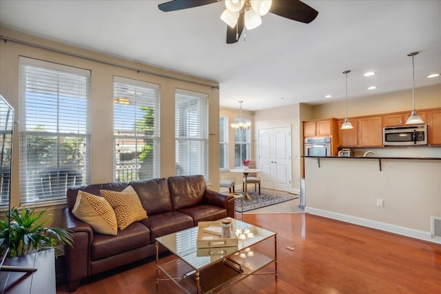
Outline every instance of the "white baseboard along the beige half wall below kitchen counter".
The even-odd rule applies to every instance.
[[[388,224],[386,222],[378,222],[376,220],[369,220],[367,218],[358,218],[356,216],[349,216],[347,214],[336,213],[333,211],[326,211],[322,209],[316,209],[314,207],[305,207],[305,212],[314,214],[316,216],[323,216],[325,218],[332,218],[334,220],[341,220],[342,222],[349,222],[351,224],[358,224],[363,227],[369,227],[372,229],[378,229],[381,231],[387,231],[389,233],[396,233],[398,235],[404,235],[418,240],[424,240],[441,244],[441,240],[431,238],[431,232],[421,231],[417,229],[410,229],[407,227],[400,227],[396,224]]]

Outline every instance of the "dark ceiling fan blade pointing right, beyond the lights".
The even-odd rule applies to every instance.
[[[318,14],[317,10],[299,0],[273,1],[269,12],[302,23],[314,21]]]

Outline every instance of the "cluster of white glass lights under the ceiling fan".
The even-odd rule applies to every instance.
[[[227,25],[234,28],[240,13],[245,16],[245,28],[252,30],[262,23],[262,16],[269,12],[272,0],[225,0],[225,11],[220,15]]]

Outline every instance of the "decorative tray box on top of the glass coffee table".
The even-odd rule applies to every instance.
[[[198,248],[237,247],[238,238],[232,220],[224,218],[214,222],[199,222],[196,246]]]

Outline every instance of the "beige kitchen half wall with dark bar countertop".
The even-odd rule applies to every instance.
[[[441,243],[441,158],[304,158],[308,213]]]

